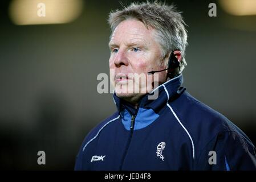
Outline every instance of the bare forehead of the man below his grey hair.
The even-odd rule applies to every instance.
[[[109,44],[154,41],[153,29],[148,29],[139,20],[129,19],[119,23],[113,31]]]

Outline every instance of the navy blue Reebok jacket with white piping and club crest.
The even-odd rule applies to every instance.
[[[75,170],[255,170],[250,139],[182,81],[180,75],[145,95],[135,114],[113,94],[117,112],[84,139]]]

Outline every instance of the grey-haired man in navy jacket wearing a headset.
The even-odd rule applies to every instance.
[[[108,21],[117,111],[87,135],[75,169],[256,169],[250,139],[181,86],[187,44],[181,14],[164,3],[132,3]]]

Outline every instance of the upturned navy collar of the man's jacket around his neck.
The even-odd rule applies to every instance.
[[[139,107],[153,109],[156,113],[158,113],[160,109],[166,105],[168,98],[169,100],[176,98],[177,95],[181,94],[185,90],[185,88],[181,87],[182,83],[182,74],[164,82],[164,84],[159,85],[151,93],[145,94],[145,96],[143,96],[143,98],[140,100]],[[158,92],[158,97],[156,97],[155,100],[150,100],[149,96],[156,96],[156,92]],[[124,101],[117,97],[115,93],[113,93],[113,100],[116,104],[117,110],[119,112],[122,111],[124,109]]]

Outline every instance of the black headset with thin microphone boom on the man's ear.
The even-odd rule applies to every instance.
[[[177,49],[174,51],[179,51],[179,50]],[[169,77],[173,78],[174,76],[176,76],[178,74],[178,71],[180,70],[180,61],[178,61],[178,59],[174,56],[174,51],[172,51],[172,53],[170,54],[169,61],[168,61],[168,67],[166,69],[162,69],[159,71],[151,71],[151,72],[148,72],[148,74],[154,74],[157,72],[162,72],[162,71],[168,70]]]

